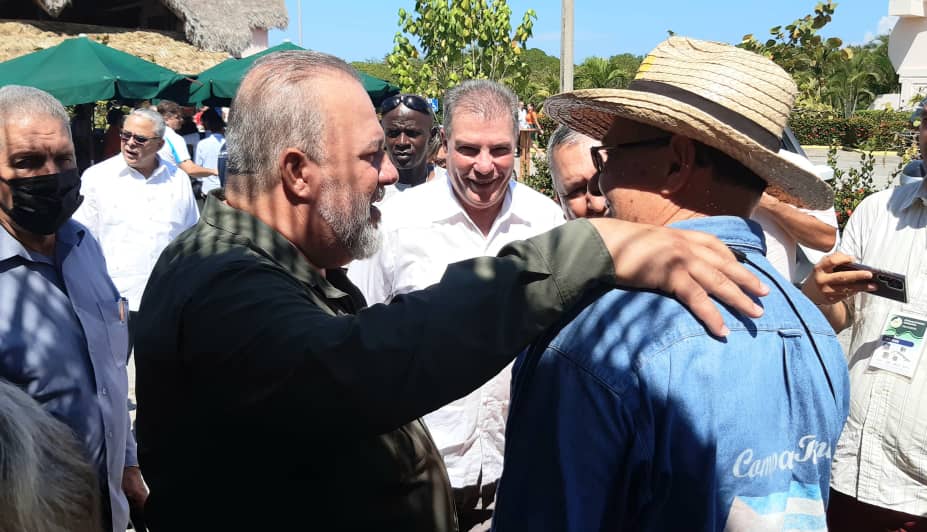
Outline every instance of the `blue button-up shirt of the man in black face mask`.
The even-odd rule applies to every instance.
[[[112,529],[125,532],[122,471],[137,465],[126,408],[128,332],[99,244],[68,221],[55,256],[0,228],[0,378],[67,424],[96,465]],[[106,516],[107,521],[109,515]]]

